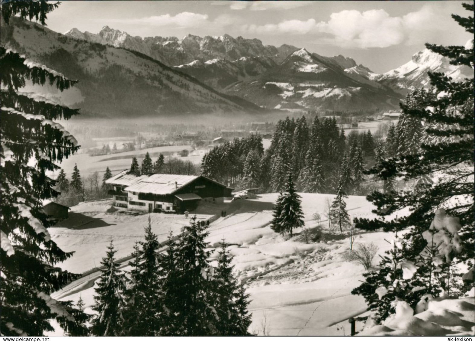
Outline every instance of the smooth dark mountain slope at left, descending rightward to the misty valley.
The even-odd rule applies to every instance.
[[[88,39],[64,36],[17,18],[12,18],[10,25],[1,23],[2,45],[80,80],[74,89],[79,89],[83,100],[73,107],[80,107],[83,115],[138,117],[262,110],[136,49],[103,45],[94,35],[84,37]]]

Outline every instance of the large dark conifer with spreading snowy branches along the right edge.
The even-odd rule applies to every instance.
[[[463,4],[473,13],[473,4]],[[452,16],[466,31],[474,32],[472,17]],[[436,46],[426,44],[429,50],[449,59],[452,65],[466,65],[473,68],[473,43],[471,46]],[[385,231],[398,231],[410,228],[403,237],[414,241],[404,252],[411,263],[418,262],[418,255],[430,243],[418,238],[434,220],[434,209],[443,206],[447,214],[460,218],[461,228],[456,232],[448,231],[444,240],[457,239],[460,254],[450,261],[472,264],[474,192],[473,192],[473,78],[454,80],[444,74],[428,73],[435,96],[414,97],[415,103],[401,103],[403,114],[409,118],[424,121],[424,133],[444,139],[421,144],[420,151],[413,155],[392,157],[371,169],[371,173],[386,178],[404,177],[406,181],[437,172],[437,182],[421,184],[404,192],[374,192],[368,200],[376,205],[375,213],[381,217],[391,215],[400,208],[409,207],[407,215],[391,221],[361,219],[357,226],[364,228],[368,223]],[[440,209],[439,209],[440,210]],[[436,212],[437,213],[437,212]],[[442,241],[444,242],[444,241]],[[451,253],[453,251],[450,251]],[[449,263],[439,264],[441,272],[446,272]],[[446,268],[446,270],[444,270]],[[431,279],[430,267],[418,269],[419,279]],[[449,272],[447,272],[449,274]],[[430,281],[425,285],[432,286]],[[442,286],[442,285],[441,285]],[[444,285],[445,286],[445,285]],[[436,293],[437,295],[437,293]]]

